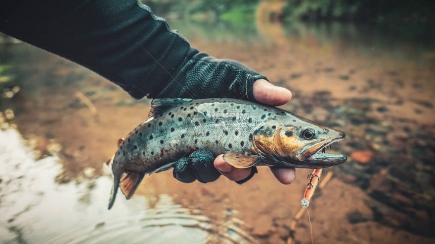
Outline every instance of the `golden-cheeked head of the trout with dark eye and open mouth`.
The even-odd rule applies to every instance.
[[[345,155],[325,153],[343,140],[343,132],[288,113],[275,116],[253,135],[254,147],[267,163],[283,167],[324,168],[344,163]]]

